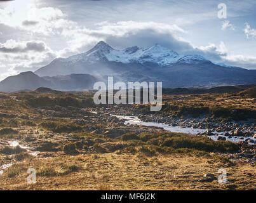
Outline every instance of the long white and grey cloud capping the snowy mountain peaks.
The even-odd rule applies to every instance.
[[[62,32],[65,36],[69,48],[78,51],[85,51],[98,41],[106,41],[116,48],[126,46],[151,46],[158,42],[165,46],[173,46],[179,49],[179,43],[189,46],[177,34],[185,31],[177,25],[169,25],[156,22],[117,22],[101,23],[95,29],[76,27],[76,29],[66,28]],[[179,51],[179,50],[177,50]]]

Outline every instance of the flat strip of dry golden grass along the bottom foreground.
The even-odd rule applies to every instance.
[[[65,166],[65,167],[64,167]],[[67,166],[72,166],[67,171]],[[27,169],[37,170],[37,183],[27,183]],[[75,170],[72,168],[75,167]],[[227,184],[203,181],[225,168]],[[42,171],[54,171],[45,173]],[[8,174],[18,171],[9,178]],[[249,164],[227,166],[221,161],[185,155],[97,154],[27,159],[0,176],[0,190],[227,190],[253,189],[256,169]]]

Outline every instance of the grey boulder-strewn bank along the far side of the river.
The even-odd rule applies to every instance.
[[[256,121],[255,119],[248,119],[247,121],[222,121],[222,119],[212,119],[209,117],[177,117],[165,114],[141,114],[136,112],[132,107],[109,107],[109,108],[97,108],[102,119],[104,116],[113,115],[125,115],[136,116],[144,122],[154,122],[159,124],[165,124],[168,126],[181,128],[194,128],[194,129],[206,129],[203,133],[208,136],[221,135],[220,140],[225,138],[234,138],[244,141],[244,144],[255,143],[251,138],[256,138]]]

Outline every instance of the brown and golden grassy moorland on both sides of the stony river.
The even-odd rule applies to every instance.
[[[250,117],[255,96],[239,94],[165,95],[163,115],[214,117],[224,107]],[[138,109],[95,107],[91,93],[0,94],[0,167],[13,164],[0,174],[0,190],[255,189],[255,145],[125,126],[110,115]],[[27,183],[29,168],[36,169],[35,184]],[[220,169],[226,184],[218,182]]]

